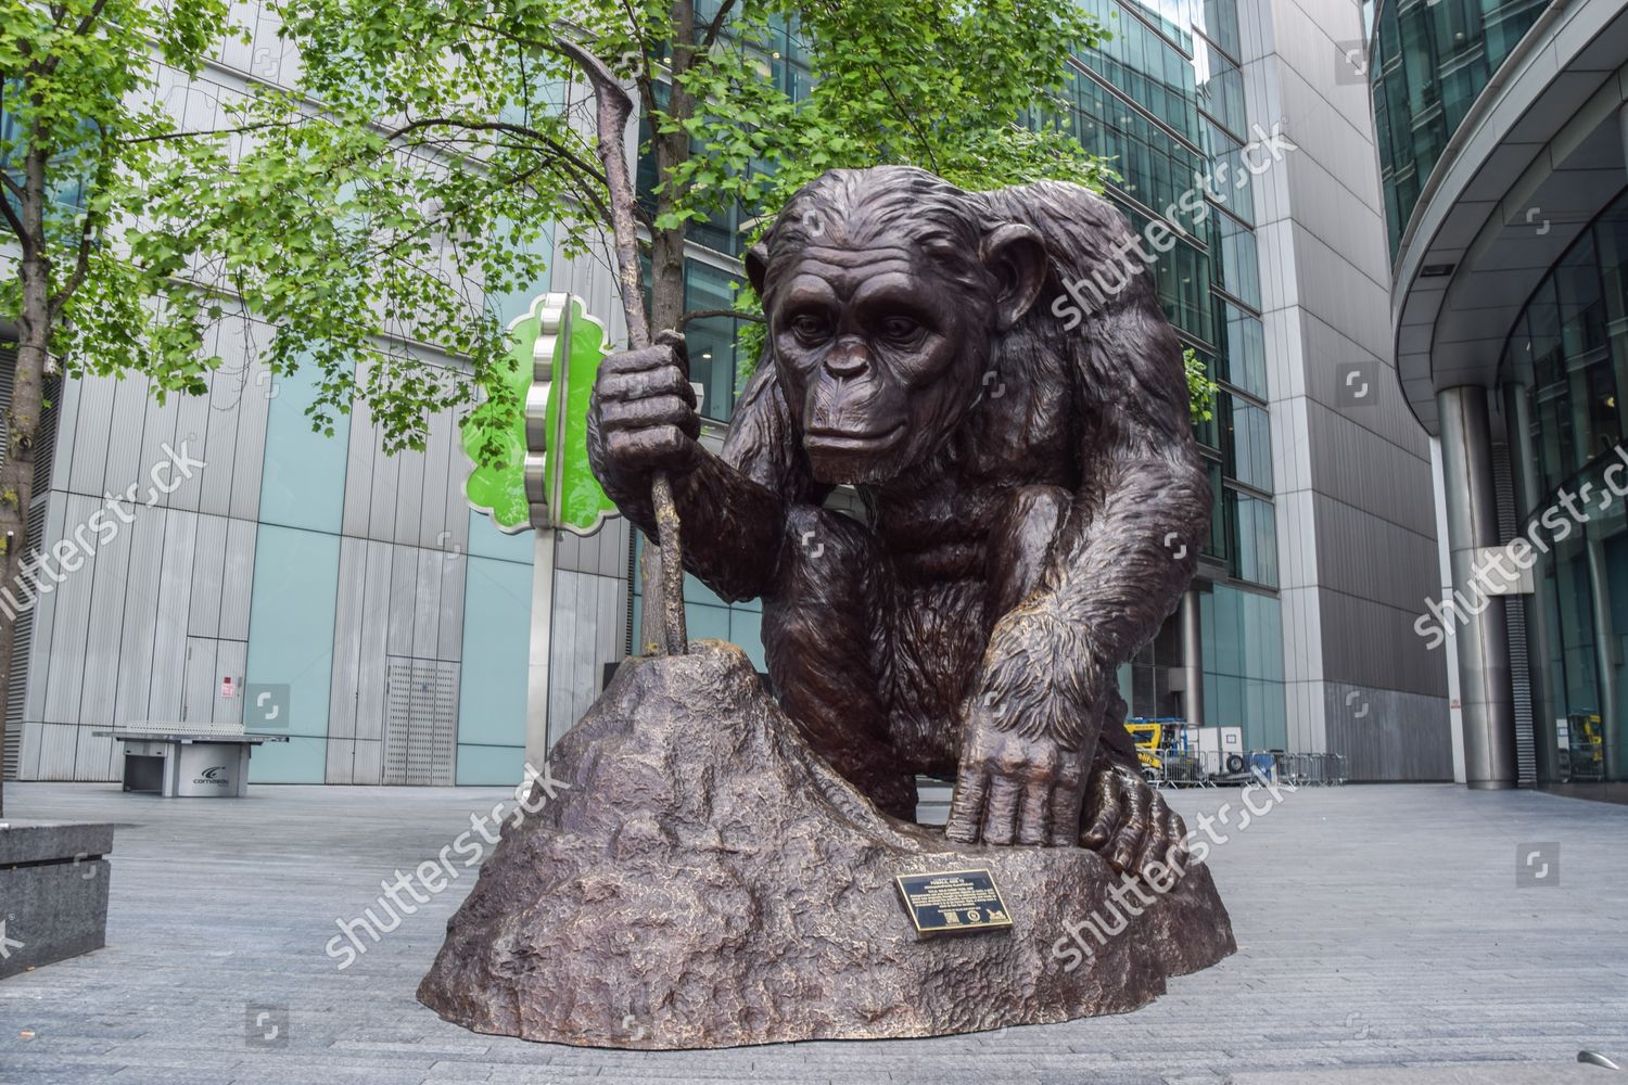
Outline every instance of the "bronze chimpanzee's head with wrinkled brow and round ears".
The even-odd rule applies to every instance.
[[[804,185],[746,268],[816,480],[879,483],[965,416],[1040,296],[1047,251],[949,182],[886,166]]]

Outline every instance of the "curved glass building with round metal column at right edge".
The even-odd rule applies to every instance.
[[[1472,787],[1628,781],[1628,5],[1381,0],[1397,371]]]

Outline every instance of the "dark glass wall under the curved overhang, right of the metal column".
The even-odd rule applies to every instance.
[[[1538,547],[1534,664],[1540,782],[1628,779],[1628,192],[1571,244],[1522,307],[1501,382],[1525,399],[1512,451]],[[1569,498],[1569,501],[1568,501]],[[1555,512],[1550,512],[1555,509]]]

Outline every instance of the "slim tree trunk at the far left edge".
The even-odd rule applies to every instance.
[[[0,765],[7,750],[7,698],[11,690],[11,646],[18,618],[37,595],[23,576],[28,548],[28,503],[34,490],[34,438],[44,399],[46,346],[50,342],[50,264],[46,255],[46,153],[31,150],[23,159],[21,280],[23,311],[18,319],[16,373],[7,410],[5,459],[0,460]],[[0,773],[0,815],[5,813]]]

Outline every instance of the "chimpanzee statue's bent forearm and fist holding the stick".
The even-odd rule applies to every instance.
[[[638,369],[645,353],[658,355],[656,361]],[[606,495],[640,530],[654,538],[650,470],[643,464],[619,462],[607,451],[607,433],[617,428],[619,412],[610,400],[620,397],[622,389],[630,390],[627,400],[648,400],[648,389],[635,381],[640,371],[681,366],[681,376],[687,381],[682,340],[664,335],[648,351],[619,355],[604,364],[627,373],[617,376],[601,371],[588,423],[589,460]],[[671,373],[664,382],[658,381],[661,387],[671,382]],[[736,405],[723,455],[708,452],[694,434],[664,434],[664,442],[671,447],[661,457],[661,465],[672,480],[672,499],[682,525],[684,568],[729,602],[764,594],[780,551],[786,504],[807,496],[807,470],[801,465],[801,449],[788,418],[775,366],[765,358]],[[663,434],[651,433],[650,439],[663,441]]]

